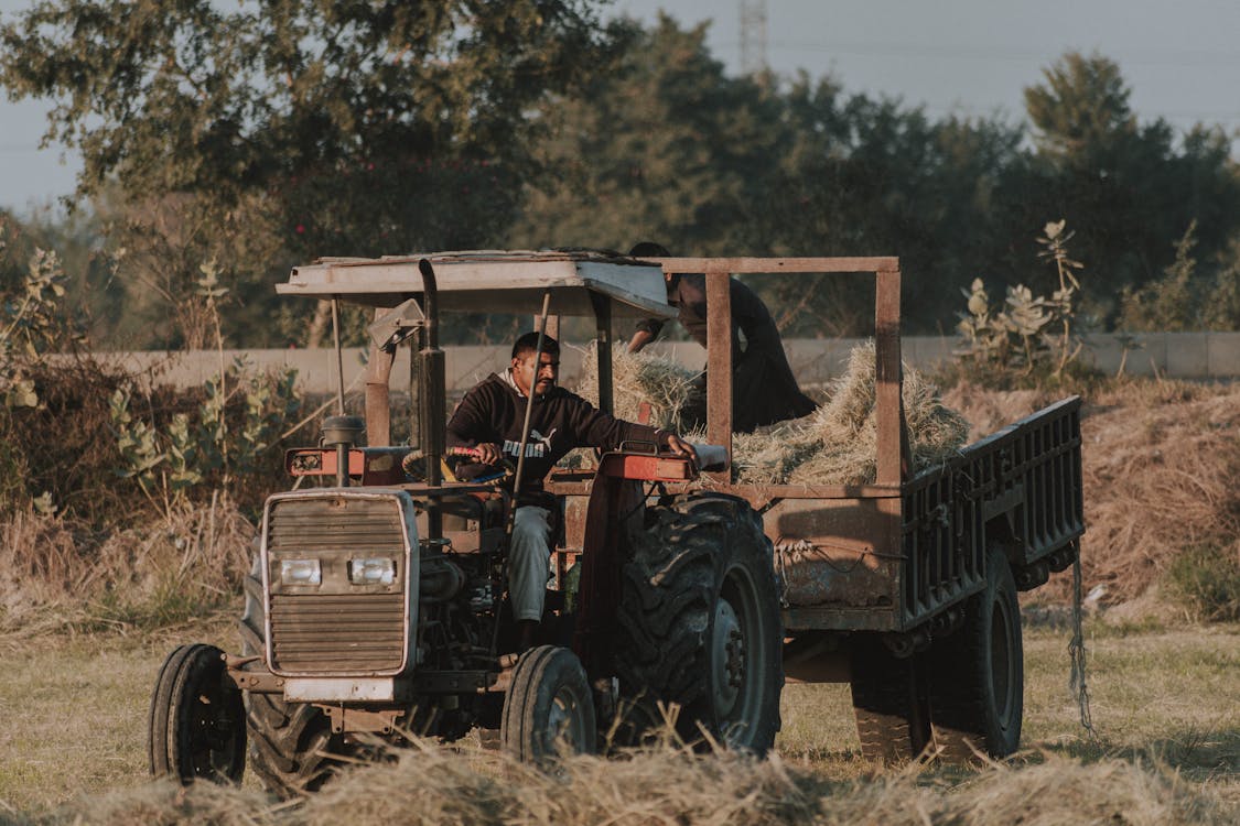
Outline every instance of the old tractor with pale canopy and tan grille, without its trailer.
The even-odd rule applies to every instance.
[[[784,685],[773,545],[750,503],[696,487],[725,467],[723,450],[703,446],[714,464],[699,468],[625,443],[559,474],[548,608],[518,655],[506,594],[522,463],[456,480],[453,463],[471,457],[444,447],[445,320],[537,311],[546,331],[593,317],[606,410],[613,322],[672,315],[658,264],[583,251],[322,260],[279,290],[331,302],[337,365],[340,303],[376,308],[366,419],[345,414],[337,369],[336,415],[317,445],[288,451],[294,489],[264,505],[239,650],[182,645],[162,665],[155,776],[237,781],[248,755],[264,786],[293,796],[378,747],[475,728],[534,763],[667,726],[689,742],[771,747]],[[402,346],[413,436],[391,446]]]

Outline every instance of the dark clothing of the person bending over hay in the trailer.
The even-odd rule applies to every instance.
[[[801,393],[784,354],[779,328],[766,305],[737,279],[728,280],[732,298],[732,430],[748,433],[761,425],[799,419],[817,407]],[[677,308],[676,320],[706,347],[706,276],[673,275],[667,285],[667,302]],[[637,329],[658,336],[663,322],[637,322]],[[745,346],[740,347],[744,333]]]

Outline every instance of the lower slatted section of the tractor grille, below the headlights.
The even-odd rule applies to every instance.
[[[272,667],[285,674],[394,671],[404,594],[272,594]]]

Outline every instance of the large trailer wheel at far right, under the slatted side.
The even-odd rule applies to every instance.
[[[965,624],[931,646],[931,719],[939,754],[968,762],[1004,758],[1021,744],[1024,654],[1021,606],[1007,557],[992,549],[986,589],[965,606]]]

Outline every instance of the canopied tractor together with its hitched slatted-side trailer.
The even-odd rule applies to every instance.
[[[558,515],[549,611],[539,644],[518,656],[506,562],[522,467],[454,480],[441,320],[537,311],[546,329],[591,318],[596,404],[611,411],[613,328],[672,317],[673,274],[706,279],[701,467],[627,443],[547,479]],[[870,482],[733,478],[734,274],[873,277]],[[866,758],[967,762],[1018,748],[1017,597],[1079,565],[1081,402],[914,467],[897,258],[439,253],[324,259],[277,290],[331,302],[334,318],[341,302],[374,310],[365,421],[345,415],[337,333],[337,415],[317,446],[288,452],[295,489],[267,502],[241,650],[181,646],[160,672],[154,774],[236,780],[248,750],[263,783],[293,795],[376,743],[472,728],[497,729],[506,750],[536,763],[667,726],[763,754],[785,679],[848,682]],[[393,446],[402,346],[410,438]]]

